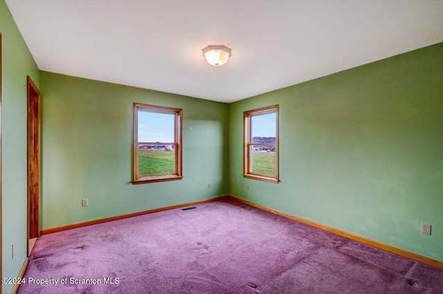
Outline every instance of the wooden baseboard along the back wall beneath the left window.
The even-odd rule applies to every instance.
[[[112,222],[112,221],[115,221],[118,219],[126,219],[128,217],[138,217],[139,215],[147,215],[149,213],[158,213],[159,211],[163,211],[163,210],[170,210],[170,209],[192,206],[192,205],[197,205],[197,204],[202,204],[202,203],[207,203],[207,202],[214,202],[214,201],[219,201],[219,200],[227,199],[227,198],[228,198],[228,196],[219,196],[219,197],[200,200],[200,201],[196,201],[196,202],[189,202],[189,203],[183,203],[183,204],[177,204],[177,205],[172,205],[172,206],[165,206],[165,207],[154,208],[154,209],[150,209],[150,210],[139,211],[138,213],[128,213],[127,215],[116,215],[115,217],[106,217],[104,219],[96,219],[96,220],[89,221],[89,222],[80,222],[78,224],[69,224],[67,226],[59,226],[56,228],[47,228],[46,230],[42,230],[41,234],[46,235],[46,234],[71,230],[72,228],[81,228],[82,226],[92,226],[93,224],[102,224],[104,222]]]

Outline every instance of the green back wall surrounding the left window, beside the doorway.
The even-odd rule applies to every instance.
[[[40,78],[42,229],[228,194],[227,104],[50,72]],[[131,183],[134,102],[183,109],[181,181]]]

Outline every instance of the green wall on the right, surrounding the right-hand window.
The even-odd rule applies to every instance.
[[[280,184],[242,177],[242,112],[273,104]],[[443,43],[237,101],[229,130],[231,195],[443,262]]]

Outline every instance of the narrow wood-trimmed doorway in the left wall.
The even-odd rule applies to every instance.
[[[28,76],[28,255],[40,235],[40,92]]]

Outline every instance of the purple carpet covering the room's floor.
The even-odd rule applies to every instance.
[[[228,200],[43,235],[25,281],[21,294],[443,293],[442,270]]]

